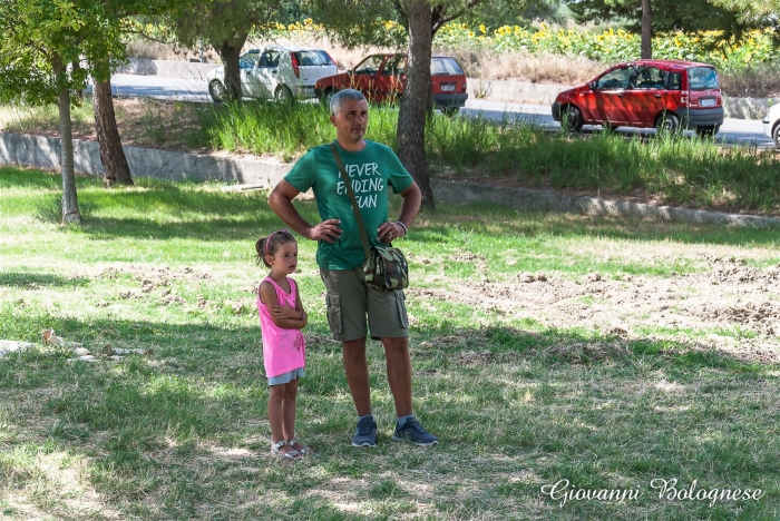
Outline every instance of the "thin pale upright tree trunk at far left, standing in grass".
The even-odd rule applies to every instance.
[[[55,73],[57,77],[57,85],[59,86],[57,107],[59,108],[60,167],[62,170],[62,223],[78,223],[81,220],[81,213],[78,209],[76,174],[74,171],[74,131],[70,124],[70,90],[66,87],[66,71],[61,59],[55,61]]]

